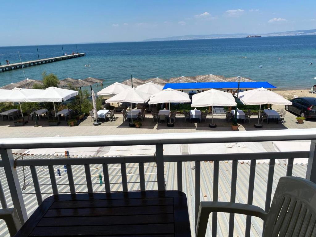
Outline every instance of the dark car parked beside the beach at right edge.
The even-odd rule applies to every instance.
[[[291,111],[304,118],[316,118],[316,98],[299,97],[290,101],[292,105],[286,105],[286,111]]]

